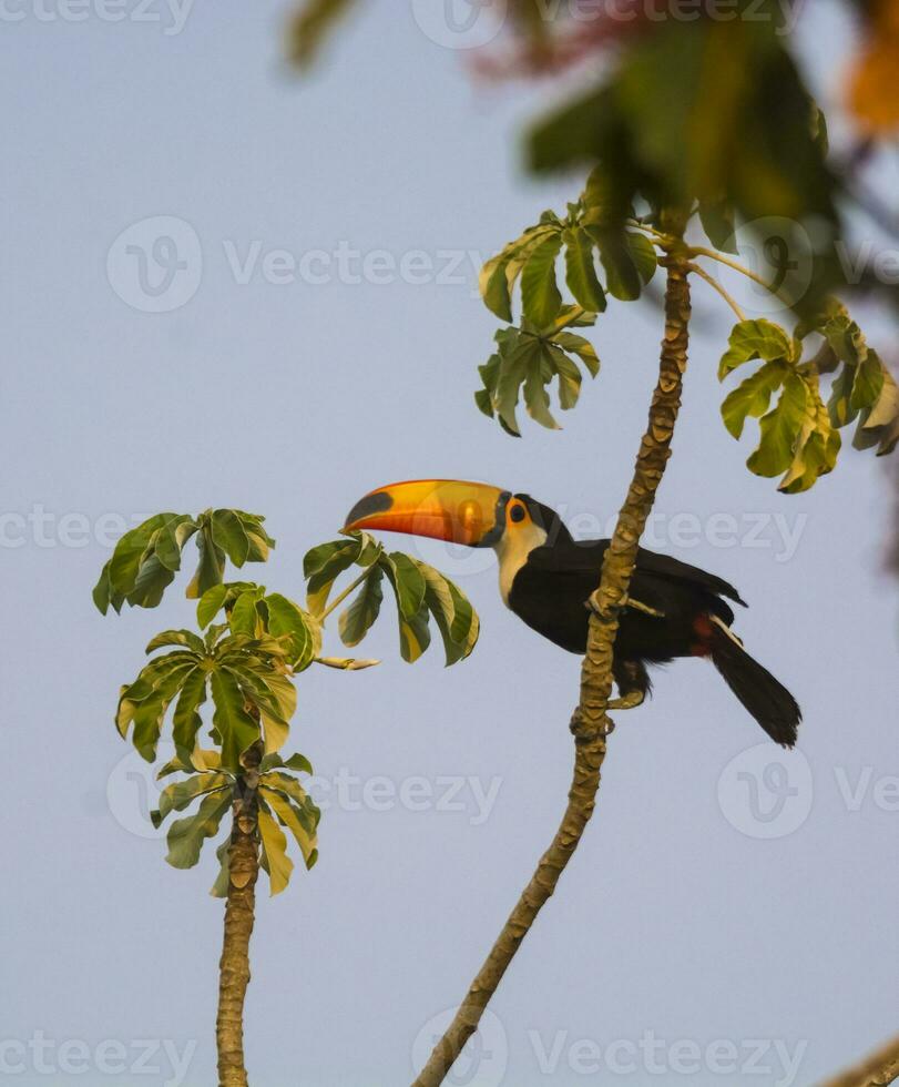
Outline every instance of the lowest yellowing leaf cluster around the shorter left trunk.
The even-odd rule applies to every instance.
[[[284,891],[294,868],[287,855],[284,830],[294,836],[307,868],[311,868],[318,859],[317,827],[321,813],[295,776],[297,772],[311,771],[303,755],[294,754],[284,760],[274,752],[265,754],[254,771],[259,861],[268,875],[273,895]],[[151,819],[154,826],[161,826],[173,812],[185,811],[200,801],[196,812],[175,820],[167,833],[165,860],[173,867],[191,868],[200,860],[205,842],[218,833],[222,819],[241,794],[242,783],[238,774],[227,769],[219,752],[214,750],[196,749],[190,754],[180,751],[162,768],[159,778],[173,773],[185,776],[163,789],[160,806],[151,813]],[[219,872],[212,894],[217,897],[224,897],[228,890],[229,844],[231,834],[227,834],[216,851]]]

